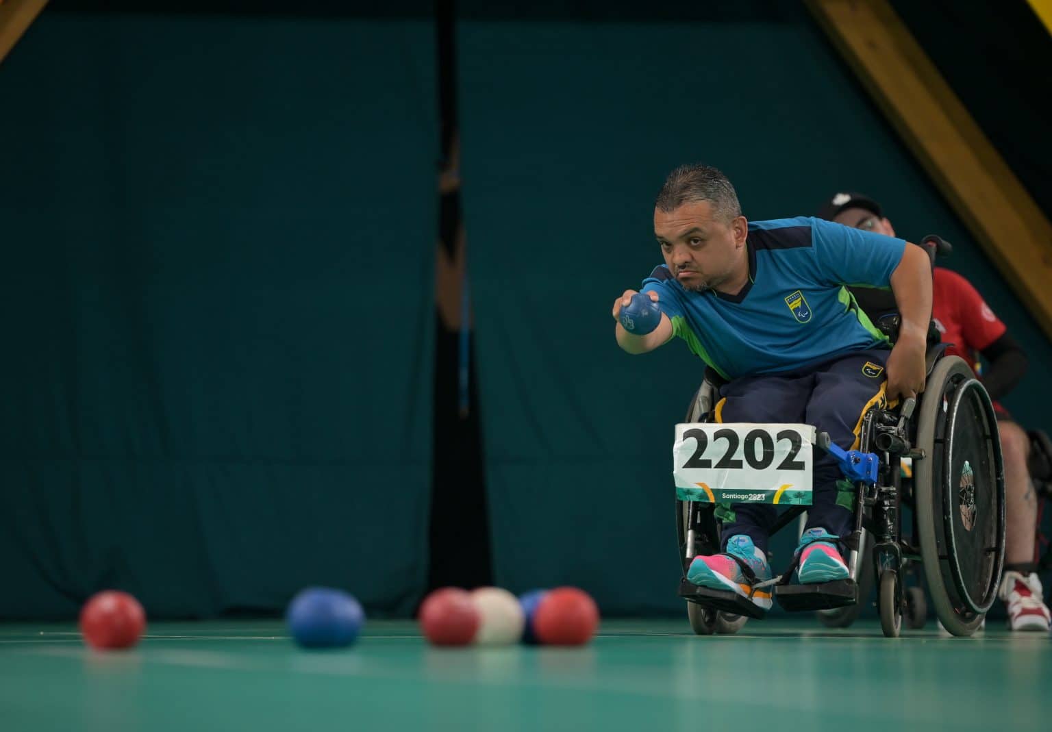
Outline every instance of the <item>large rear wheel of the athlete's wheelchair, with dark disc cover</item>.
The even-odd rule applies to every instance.
[[[957,357],[928,379],[914,462],[917,532],[935,613],[971,635],[997,596],[1005,561],[1005,471],[993,404]]]

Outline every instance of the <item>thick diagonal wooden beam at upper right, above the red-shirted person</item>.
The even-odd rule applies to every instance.
[[[1052,339],[1052,224],[886,0],[807,0],[976,241]]]

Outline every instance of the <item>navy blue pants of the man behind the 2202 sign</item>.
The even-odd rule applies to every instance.
[[[854,351],[795,371],[735,379],[720,389],[723,400],[716,405],[716,420],[814,425],[845,450],[857,449],[856,429],[865,411],[873,404],[887,406],[884,366],[890,353]],[[854,530],[854,514],[836,505],[836,482],[843,477],[836,462],[816,449],[808,529],[822,527],[837,536]],[[743,533],[766,552],[777,509],[770,504],[734,504],[733,508],[734,520],[724,524],[721,536],[724,548],[728,538]]]

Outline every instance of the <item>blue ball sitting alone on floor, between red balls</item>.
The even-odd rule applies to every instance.
[[[308,587],[288,605],[288,630],[304,648],[341,648],[358,639],[362,606],[343,590]]]

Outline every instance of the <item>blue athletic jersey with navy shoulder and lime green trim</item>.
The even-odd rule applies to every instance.
[[[750,223],[746,247],[749,282],[735,296],[684,289],[665,265],[643,281],[672,332],[724,379],[888,347],[847,285],[890,287],[904,240],[800,217]]]

